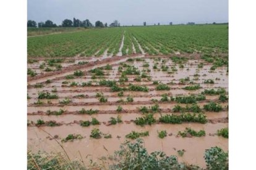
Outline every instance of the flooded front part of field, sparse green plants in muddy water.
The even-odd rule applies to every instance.
[[[55,69],[51,67],[45,71],[42,66],[45,59],[28,63],[28,68],[37,73],[28,78],[28,150],[62,152],[59,142],[70,158],[100,163],[100,158],[113,155],[120,144],[132,140],[127,134],[148,131],[149,135],[142,137],[148,152],[161,150],[178,156],[180,162],[202,168],[206,168],[203,159],[206,149],[218,146],[228,151],[228,139],[217,134],[228,127],[226,64],[216,67],[194,54],[178,57],[145,56],[144,52],[132,57],[121,54],[67,57],[59,61],[58,67],[62,68],[59,71],[49,71]],[[213,57],[214,61],[220,62],[219,59],[226,60]],[[138,121],[148,115],[155,120]],[[171,115],[194,117],[183,118],[181,122],[164,119]],[[113,123],[113,118],[121,121]],[[97,123],[82,126],[93,119]],[[186,127],[205,131],[205,136],[182,137],[180,131]],[[90,137],[95,128],[101,132],[100,139]],[[163,139],[158,137],[160,131],[167,132]],[[63,142],[69,134],[82,137]],[[111,137],[106,139],[103,134]],[[179,155],[178,150],[184,150],[184,155]]]

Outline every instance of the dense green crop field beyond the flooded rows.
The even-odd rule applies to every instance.
[[[74,29],[74,28],[70,28]],[[84,29],[84,28],[82,28]],[[47,31],[47,30],[46,30]],[[28,57],[228,53],[228,25],[130,26],[28,37]]]

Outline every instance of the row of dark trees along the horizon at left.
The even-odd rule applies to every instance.
[[[103,23],[100,20],[95,22],[95,25],[93,25],[90,20],[79,20],[76,18],[73,18],[72,20],[65,19],[62,21],[61,25],[56,25],[56,23],[53,23],[51,20],[46,20],[46,22],[38,22],[36,23],[33,20],[28,20],[27,22],[28,27],[108,27],[108,23]],[[117,27],[120,26],[120,23],[117,20],[114,20],[111,24],[109,24],[109,27]]]

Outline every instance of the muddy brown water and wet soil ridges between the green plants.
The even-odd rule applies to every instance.
[[[123,41],[123,39],[122,39]],[[123,42],[121,42],[123,44]],[[140,44],[139,44],[139,48]],[[142,49],[141,49],[142,50]],[[106,52],[105,52],[106,53]],[[224,88],[226,90],[226,95],[228,95],[228,74],[227,67],[218,67],[216,70],[211,71],[211,63],[207,63],[204,60],[198,59],[200,56],[195,55],[195,59],[189,59],[186,63],[183,63],[184,68],[179,68],[179,64],[174,63],[169,56],[161,57],[144,57],[144,52],[142,55],[132,56],[132,57],[106,57],[105,54],[101,57],[73,57],[67,58],[64,62],[61,63],[62,71],[55,74],[45,73],[45,71],[40,70],[39,66],[41,63],[45,62],[44,59],[38,59],[36,63],[28,63],[28,68],[32,68],[37,75],[35,78],[28,78],[28,99],[27,102],[27,119],[32,124],[29,124],[27,127],[28,130],[28,150],[32,152],[37,152],[38,150],[43,150],[46,152],[62,152],[62,148],[58,143],[53,140],[55,137],[61,143],[61,139],[64,139],[69,134],[81,134],[84,138],[80,140],[74,140],[73,142],[61,143],[68,153],[69,157],[72,159],[79,159],[89,163],[89,160],[92,159],[97,163],[101,163],[99,158],[101,156],[109,156],[114,153],[114,150],[119,149],[119,145],[126,140],[126,134],[129,134],[131,131],[149,131],[150,136],[143,137],[145,141],[145,147],[148,152],[153,152],[157,150],[162,150],[168,155],[177,155],[177,150],[186,150],[184,155],[178,156],[180,162],[185,162],[188,164],[198,164],[202,168],[206,168],[205,160],[203,159],[203,154],[206,149],[210,147],[221,147],[223,150],[228,150],[228,139],[217,136],[216,132],[218,129],[223,127],[228,127],[228,102],[220,102],[220,95],[205,95],[206,100],[197,102],[197,105],[200,108],[203,108],[203,105],[208,102],[217,102],[219,103],[224,110],[220,112],[205,111],[203,113],[207,116],[208,123],[182,123],[182,124],[153,124],[151,126],[137,126],[133,122],[134,119],[143,116],[139,111],[140,107],[151,107],[155,103],[151,99],[161,100],[161,95],[168,94],[169,97],[176,95],[190,95],[190,94],[201,94],[205,89],[218,89]],[[192,55],[192,54],[191,54]],[[190,57],[190,55],[184,54],[184,57]],[[145,61],[134,61],[126,62],[127,59],[137,59],[143,58]],[[158,58],[166,60],[166,62],[159,61]],[[74,62],[69,63],[69,60],[74,60]],[[158,60],[158,61],[156,61]],[[88,65],[79,66],[79,70],[82,70],[84,75],[80,78],[75,79],[66,79],[65,76],[72,75],[75,70],[77,70],[78,62],[89,62]],[[142,78],[141,81],[137,82],[134,78],[137,75],[127,75],[129,78],[128,82],[125,82],[121,87],[128,87],[129,83],[136,85],[147,86],[148,92],[139,92],[139,91],[124,91],[124,95],[119,97],[117,94],[119,92],[111,92],[111,87],[105,86],[96,86],[100,78],[92,79],[93,74],[89,70],[97,67],[104,67],[107,64],[112,66],[112,70],[104,70],[106,73],[103,76],[104,79],[111,81],[119,80],[121,72],[118,71],[120,63],[127,63],[129,65],[134,65],[140,71],[150,69],[150,72],[147,72],[147,75],[151,77],[151,80],[147,78]],[[153,65],[158,62],[158,69],[153,69]],[[149,67],[143,67],[143,64],[148,63]],[[198,63],[203,63],[203,68],[197,68]],[[161,65],[166,65],[169,68],[175,67],[177,71],[169,73],[168,71],[162,71]],[[123,68],[124,70],[125,68]],[[196,75],[197,74],[197,75]],[[198,76],[199,75],[199,76]],[[189,77],[189,81],[186,81],[185,84],[180,83],[180,79],[185,79]],[[46,80],[51,79],[51,83],[46,84]],[[207,79],[213,79],[214,84],[205,84],[203,83]],[[68,81],[68,84],[62,84],[63,81]],[[93,86],[77,86],[70,87],[71,82],[76,82],[82,84],[83,82],[92,81]],[[153,85],[153,81],[158,81],[163,84],[168,84],[170,89],[168,91],[157,91],[156,85]],[[190,82],[193,81],[194,84],[199,84],[200,89],[194,91],[187,91],[182,89],[186,86],[193,86]],[[35,88],[36,83],[43,84],[43,87]],[[117,83],[119,84],[119,83]],[[56,92],[52,92],[53,89],[56,89]],[[58,94],[59,99],[41,99],[43,102],[42,105],[35,105],[34,103],[38,102],[38,92],[50,92],[51,94]],[[98,92],[102,92],[103,95],[108,98],[108,102],[101,103],[99,102],[98,97],[95,95]],[[76,95],[83,94],[83,97],[77,97]],[[134,102],[128,103],[119,103],[117,102],[120,99],[126,101],[127,97],[131,95],[134,99]],[[72,100],[71,103],[67,105],[59,104],[60,100],[69,98]],[[117,107],[121,105],[122,111],[116,111]],[[176,114],[173,113],[173,108],[175,105],[181,105],[186,107],[186,104],[176,103],[176,102],[158,102],[160,107],[161,115],[166,114]],[[81,115],[79,110],[99,110],[98,113],[93,115]],[[59,111],[60,109],[64,110],[62,115],[47,115],[48,110]],[[160,118],[160,113],[156,112],[154,117],[156,119]],[[108,121],[111,117],[117,118],[121,116],[123,123],[110,125]],[[98,119],[100,125],[90,125],[89,127],[80,126],[80,120],[89,120],[92,118]],[[38,119],[43,119],[47,121],[56,121],[59,126],[35,126],[35,123]],[[111,139],[92,139],[90,138],[90,132],[94,127],[100,129],[101,132],[111,134]],[[178,137],[177,134],[179,131],[184,131],[186,127],[191,127],[195,131],[205,130],[205,137]],[[49,136],[46,132],[51,134]],[[164,139],[158,137],[158,131],[166,130],[168,136]],[[80,156],[81,154],[81,156]],[[82,158],[81,158],[82,157]]]

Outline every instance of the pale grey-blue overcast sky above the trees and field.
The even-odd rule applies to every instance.
[[[28,0],[27,7],[28,20],[57,25],[74,17],[121,26],[228,22],[228,0]]]

